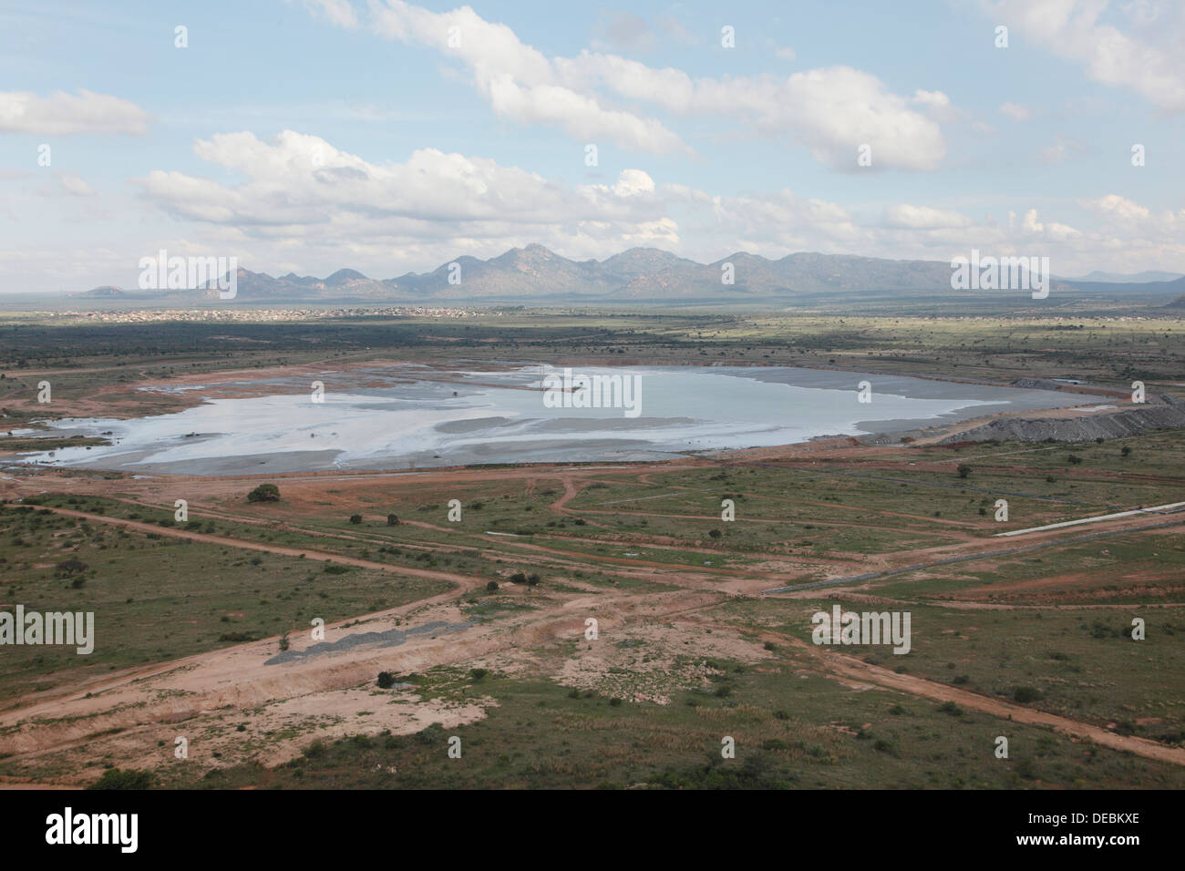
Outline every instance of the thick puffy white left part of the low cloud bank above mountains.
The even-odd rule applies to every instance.
[[[156,169],[136,180],[145,196],[174,217],[246,238],[391,246],[417,239],[440,248],[478,241],[478,248],[488,242],[485,248],[498,249],[514,239],[556,244],[595,228],[606,237],[678,243],[654,180],[640,169],[622,171],[610,185],[571,187],[435,148],[404,162],[373,164],[293,130],[270,141],[218,134],[199,140],[194,153],[246,180],[224,184]]]

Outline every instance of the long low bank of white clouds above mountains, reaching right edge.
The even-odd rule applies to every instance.
[[[1056,216],[1026,205],[997,223],[991,214],[973,218],[920,203],[847,207],[788,188],[720,196],[636,168],[569,185],[434,148],[374,162],[292,130],[268,141],[251,133],[214,135],[194,152],[243,180],[160,169],[137,180],[143,196],[200,226],[209,244],[244,251],[242,262],[252,269],[350,265],[385,277],[530,243],[576,260],[642,245],[699,262],[739,250],[771,258],[821,251],[949,262],[978,248],[1049,255],[1062,275],[1185,262],[1185,211],[1154,213],[1117,194],[1051,207]]]

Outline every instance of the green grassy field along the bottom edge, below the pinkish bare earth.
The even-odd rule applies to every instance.
[[[455,672],[424,690],[492,696],[485,719],[415,735],[310,743],[274,769],[174,767],[165,786],[232,788],[1180,788],[1179,767],[1149,763],[1043,729],[895,693],[852,692],[775,658],[757,672],[712,662],[710,686],[665,706],[552,681]],[[771,671],[776,673],[771,673]],[[410,691],[412,696],[421,690]],[[406,697],[409,691],[397,696]],[[392,704],[401,704],[392,702]],[[403,702],[410,704],[410,702]],[[995,738],[1010,758],[995,758]],[[461,758],[448,739],[461,739]],[[735,739],[735,758],[722,739]]]

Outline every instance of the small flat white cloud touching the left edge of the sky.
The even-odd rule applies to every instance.
[[[79,89],[38,97],[28,91],[0,92],[0,133],[63,136],[73,133],[143,134],[152,116],[135,103]]]

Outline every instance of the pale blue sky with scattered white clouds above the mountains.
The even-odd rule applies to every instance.
[[[0,0],[0,293],[537,243],[1185,273],[1185,2]]]

